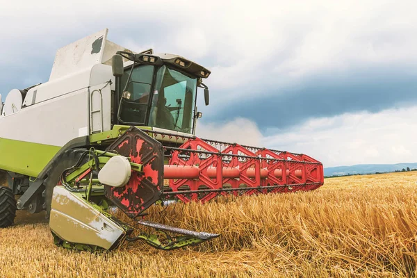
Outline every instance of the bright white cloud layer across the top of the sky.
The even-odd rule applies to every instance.
[[[58,47],[109,27],[120,44],[152,45],[210,67],[208,82],[220,95],[277,88],[325,70],[413,63],[417,56],[415,1],[21,2],[0,11],[0,23],[8,26],[0,30],[0,49],[20,54],[4,60],[51,60]]]

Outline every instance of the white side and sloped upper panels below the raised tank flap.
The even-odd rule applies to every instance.
[[[0,137],[62,147],[90,131],[110,130],[112,78],[111,66],[94,65],[29,90],[26,107],[0,117]],[[91,95],[91,107],[100,110],[92,115]]]

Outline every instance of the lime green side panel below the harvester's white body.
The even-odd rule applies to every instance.
[[[0,138],[0,169],[38,177],[59,150],[56,146]]]

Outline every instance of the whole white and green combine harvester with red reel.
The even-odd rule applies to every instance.
[[[202,81],[211,72],[177,55],[133,53],[107,32],[59,49],[47,83],[0,100],[0,227],[13,224],[17,209],[46,210],[63,247],[113,250],[145,240],[173,250],[218,234],[143,220],[160,200],[322,186],[322,164],[305,154],[195,137],[197,88],[208,105]],[[111,206],[158,233],[133,236]]]

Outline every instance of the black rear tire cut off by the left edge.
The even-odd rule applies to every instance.
[[[16,211],[16,199],[13,191],[6,186],[0,186],[0,228],[13,225]]]

